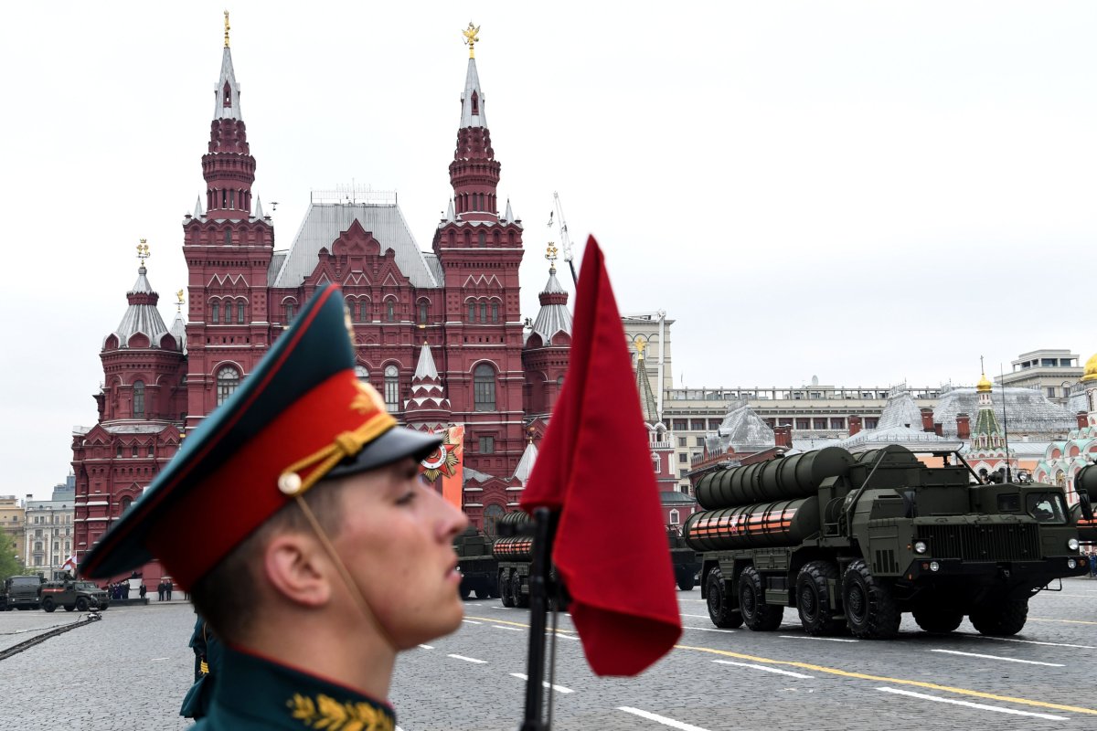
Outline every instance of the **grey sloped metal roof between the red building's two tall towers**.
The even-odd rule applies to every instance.
[[[272,287],[297,287],[316,270],[320,249],[331,249],[339,235],[358,220],[381,244],[381,250],[392,249],[396,265],[416,287],[439,287],[431,267],[411,236],[404,214],[396,204],[373,203],[310,203],[293,240],[289,255],[279,270]]]

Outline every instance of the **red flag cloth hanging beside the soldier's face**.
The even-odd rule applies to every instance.
[[[553,561],[590,669],[635,675],[681,636],[647,430],[602,252],[587,240],[572,357],[522,509],[559,510]]]

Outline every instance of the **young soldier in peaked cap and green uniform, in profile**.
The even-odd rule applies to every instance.
[[[196,730],[391,731],[396,654],[461,624],[467,519],[418,477],[440,439],[397,426],[354,365],[328,286],[83,560],[158,557],[224,641]]]

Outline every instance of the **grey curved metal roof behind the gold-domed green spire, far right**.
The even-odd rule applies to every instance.
[[[1005,396],[1005,413],[1002,401]],[[995,415],[1003,430],[1008,430],[1010,437],[1029,434],[1037,437],[1052,438],[1053,435],[1065,435],[1077,426],[1077,419],[1063,407],[1052,403],[1040,391],[1029,388],[1005,388],[995,390],[992,399]],[[957,434],[957,414],[965,413],[974,421],[979,412],[979,393],[974,388],[953,388],[941,393],[941,400],[934,410],[934,422],[941,424],[946,436]],[[1008,419],[1007,419],[1008,418]],[[1010,438],[1010,446],[1013,446]]]

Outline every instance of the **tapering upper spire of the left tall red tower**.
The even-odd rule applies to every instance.
[[[225,11],[225,52],[220,77],[214,87],[213,122],[210,148],[202,157],[206,181],[206,215],[218,219],[248,218],[251,210],[251,184],[256,180],[256,159],[248,148],[247,129],[240,116],[240,85],[233,69],[228,47],[228,11]]]

